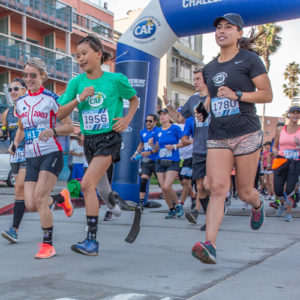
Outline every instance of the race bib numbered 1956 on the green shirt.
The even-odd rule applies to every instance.
[[[99,130],[109,128],[107,108],[82,111],[83,128],[85,130]]]

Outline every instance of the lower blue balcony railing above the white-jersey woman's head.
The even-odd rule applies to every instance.
[[[22,71],[27,59],[34,56],[45,61],[49,78],[64,82],[72,78],[70,56],[0,34],[0,65]]]

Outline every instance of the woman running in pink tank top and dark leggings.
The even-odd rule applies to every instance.
[[[276,215],[280,217],[286,208],[285,220],[291,222],[295,187],[300,175],[300,126],[298,125],[300,107],[292,106],[289,109],[288,118],[288,125],[276,131],[272,152],[274,156],[277,156],[273,162],[274,189],[281,202]]]

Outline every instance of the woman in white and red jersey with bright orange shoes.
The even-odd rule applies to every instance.
[[[43,242],[35,258],[49,258],[56,254],[52,245],[53,218],[49,196],[63,168],[62,147],[57,136],[71,134],[73,125],[70,118],[65,118],[61,119],[62,126],[55,127],[58,96],[43,86],[47,80],[43,60],[29,58],[24,66],[23,78],[28,94],[16,103],[16,114],[21,123],[11,151],[15,152],[25,136],[25,203],[29,210],[37,208],[43,230]],[[64,210],[72,211],[70,201]]]

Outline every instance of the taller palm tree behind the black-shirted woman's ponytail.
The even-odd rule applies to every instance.
[[[270,70],[270,56],[274,54],[281,45],[281,37],[278,35],[282,27],[275,23],[257,26],[257,39],[255,40],[255,51],[265,63],[267,72]],[[264,130],[266,105],[263,104],[262,130]]]

